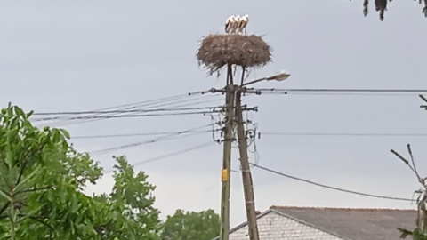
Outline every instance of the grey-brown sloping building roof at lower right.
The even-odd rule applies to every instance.
[[[415,228],[415,210],[271,206],[270,212],[350,240],[399,240],[397,228]],[[247,223],[230,230],[230,234]]]

